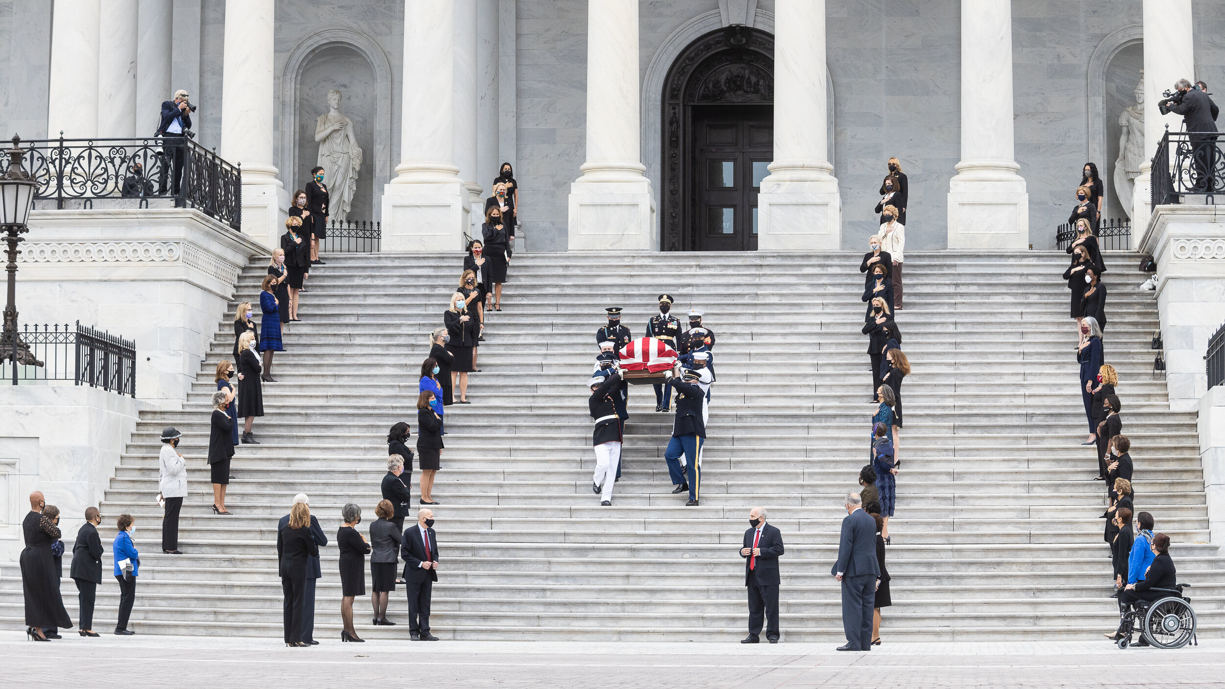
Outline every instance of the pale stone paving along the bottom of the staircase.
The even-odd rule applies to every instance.
[[[888,644],[517,642],[374,640],[287,649],[276,639],[76,634],[0,639],[4,685],[100,687],[1144,687],[1225,684],[1225,640],[1120,651],[1102,640]]]

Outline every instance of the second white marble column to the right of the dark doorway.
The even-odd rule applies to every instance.
[[[1028,249],[1029,194],[1013,153],[1012,1],[962,0],[962,161],[949,249]]]

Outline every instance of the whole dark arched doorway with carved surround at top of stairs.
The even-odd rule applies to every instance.
[[[774,39],[744,26],[691,43],[664,81],[664,251],[753,251],[774,158]]]

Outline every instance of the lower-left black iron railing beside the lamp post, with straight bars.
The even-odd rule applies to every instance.
[[[136,343],[109,332],[81,325],[26,325],[21,340],[39,365],[17,365],[17,381],[71,380],[136,396]],[[0,384],[12,383],[11,360],[0,363]]]

